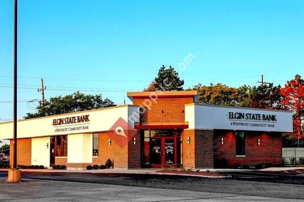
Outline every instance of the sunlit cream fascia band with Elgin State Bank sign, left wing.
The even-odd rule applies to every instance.
[[[49,116],[17,122],[18,138],[92,133],[107,131],[119,118],[123,118],[132,127],[139,122],[139,115],[129,120],[129,115],[139,113],[137,106],[119,106],[78,113]],[[0,124],[0,139],[13,138],[13,123]]]

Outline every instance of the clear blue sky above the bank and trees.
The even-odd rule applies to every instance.
[[[161,65],[180,77],[231,86],[304,76],[303,1],[24,1],[19,0],[18,118],[41,98],[74,90],[122,104]],[[13,117],[13,0],[0,0],[0,119]],[[99,89],[96,89],[99,88]],[[116,92],[112,92],[116,91]],[[24,101],[22,101],[24,100]]]

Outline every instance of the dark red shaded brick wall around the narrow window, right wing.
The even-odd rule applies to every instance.
[[[223,144],[220,138],[223,137]],[[260,145],[257,139],[260,139]],[[224,158],[229,166],[282,162],[282,136],[276,132],[245,131],[245,158],[236,157],[235,131],[216,130],[214,134],[214,161],[219,164]],[[218,165],[217,165],[218,167]]]

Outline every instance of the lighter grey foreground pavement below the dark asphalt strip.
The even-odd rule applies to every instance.
[[[0,201],[302,201],[240,194],[0,177]]]

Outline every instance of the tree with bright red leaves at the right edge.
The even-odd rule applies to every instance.
[[[293,133],[288,134],[291,139],[297,139],[299,146],[300,139],[304,137],[304,80],[300,75],[287,81],[281,88],[283,98],[281,102],[287,110],[293,112]]]

